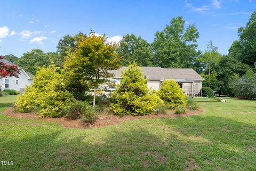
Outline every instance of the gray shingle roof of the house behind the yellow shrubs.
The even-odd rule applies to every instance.
[[[114,78],[121,78],[121,73],[128,67],[121,67],[118,70],[109,71],[115,75]],[[204,80],[192,68],[161,68],[161,67],[141,67],[147,79],[185,79],[185,80]]]

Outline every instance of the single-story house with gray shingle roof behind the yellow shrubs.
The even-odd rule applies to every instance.
[[[128,67],[121,67],[118,70],[109,71],[114,74],[114,84],[119,84],[122,80],[121,73]],[[158,90],[165,79],[173,79],[180,84],[183,92],[190,96],[201,96],[203,78],[191,68],[161,68],[161,67],[141,67],[147,79],[148,88]]]

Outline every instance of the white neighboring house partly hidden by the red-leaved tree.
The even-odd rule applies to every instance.
[[[16,66],[14,63],[7,61],[5,59],[0,60],[8,65]],[[30,85],[32,83],[32,77],[33,75],[29,72],[26,72],[19,66],[17,66],[20,70],[19,78],[17,77],[7,77],[7,78],[1,78],[0,79],[0,86],[1,90],[3,89],[15,89],[17,91],[24,91],[26,88],[26,85]]]

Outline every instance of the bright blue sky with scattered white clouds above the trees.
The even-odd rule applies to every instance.
[[[0,54],[20,57],[33,48],[56,51],[58,40],[78,31],[106,34],[110,41],[134,33],[153,42],[155,32],[163,30],[173,17],[181,15],[186,26],[195,23],[205,50],[213,41],[219,52],[227,54],[256,10],[256,0],[209,1],[1,1]]]

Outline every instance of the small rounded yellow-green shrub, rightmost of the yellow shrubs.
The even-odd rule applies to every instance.
[[[166,102],[167,106],[172,109],[178,105],[186,105],[186,95],[182,92],[179,84],[173,80],[165,80],[158,94]]]

